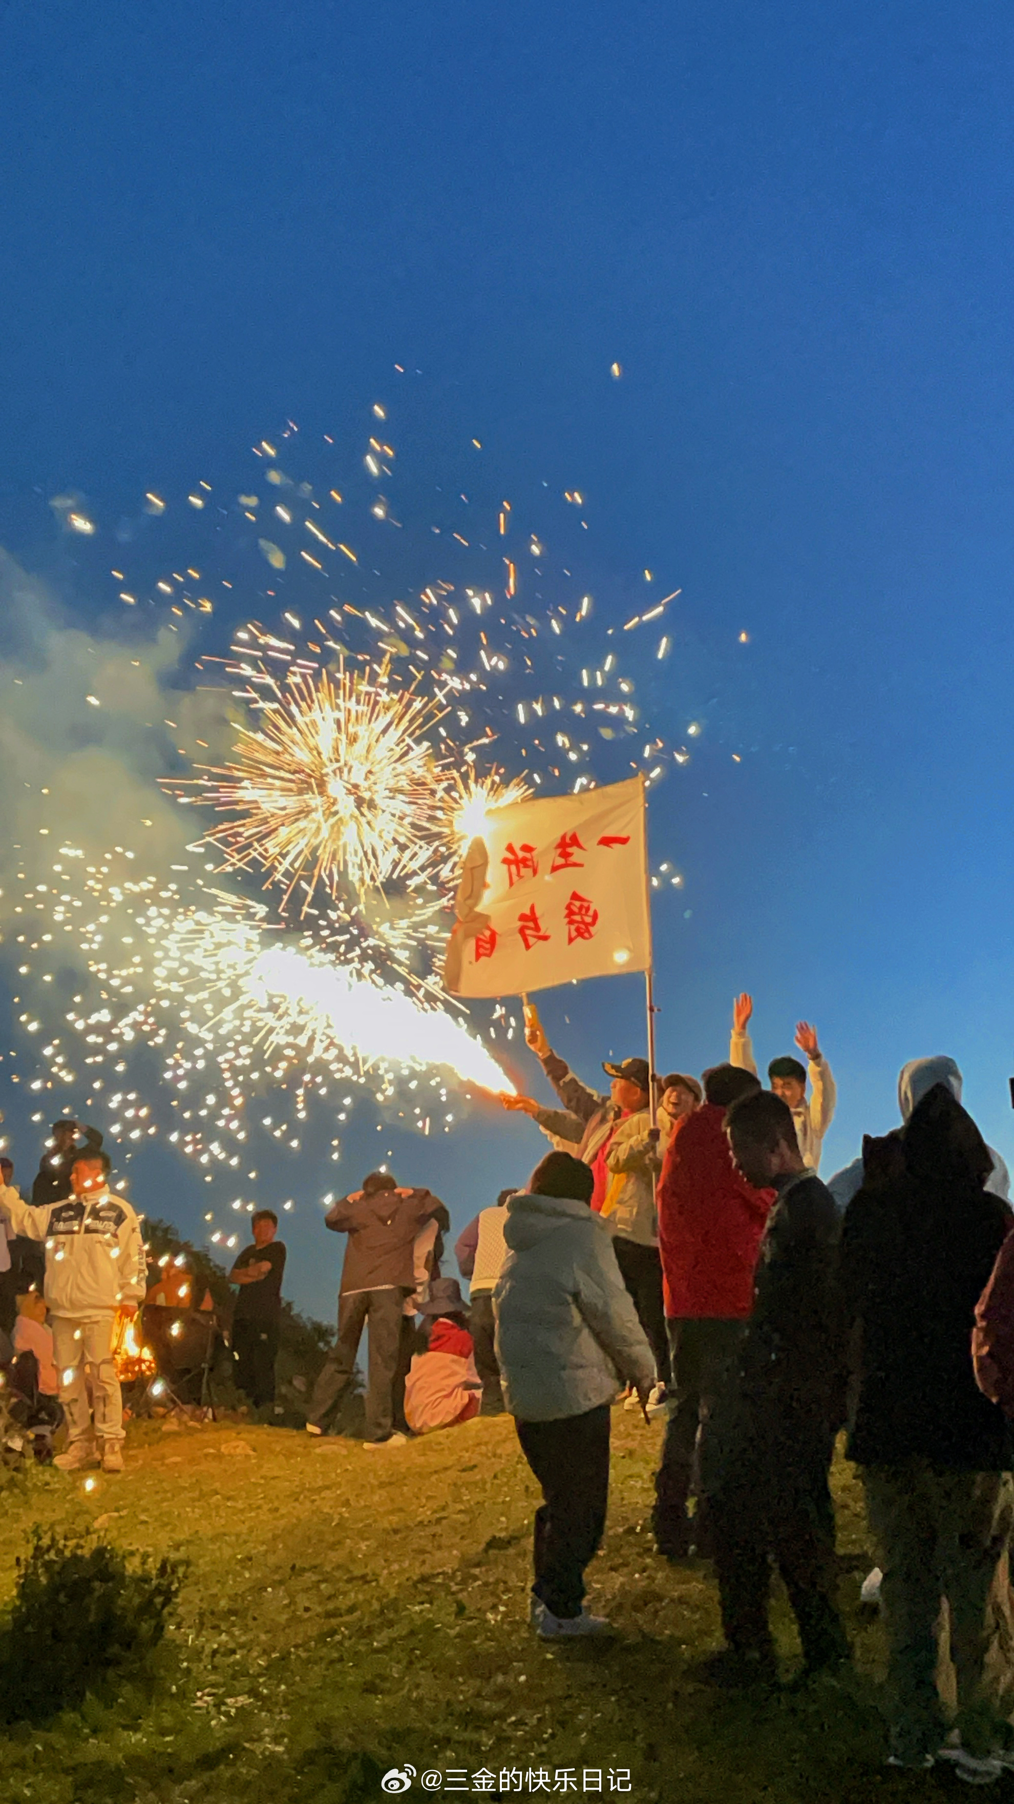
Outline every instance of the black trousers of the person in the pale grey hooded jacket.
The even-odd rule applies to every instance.
[[[534,1595],[554,1616],[579,1616],[585,1568],[606,1528],[610,1405],[559,1422],[516,1422],[545,1503],[536,1510]]]

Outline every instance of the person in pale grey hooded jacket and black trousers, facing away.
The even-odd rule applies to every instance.
[[[585,1611],[610,1488],[610,1404],[642,1402],[651,1348],[622,1283],[615,1243],[592,1203],[594,1174],[548,1153],[507,1203],[507,1259],[493,1297],[503,1400],[541,1485],[529,1620],[543,1640],[604,1634]]]

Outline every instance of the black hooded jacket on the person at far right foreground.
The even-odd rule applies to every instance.
[[[992,1158],[973,1118],[936,1084],[913,1109],[904,1171],[853,1196],[841,1290],[852,1328],[848,1456],[859,1465],[929,1459],[1003,1472],[1003,1413],[976,1387],[973,1328],[1009,1227],[983,1189]]]

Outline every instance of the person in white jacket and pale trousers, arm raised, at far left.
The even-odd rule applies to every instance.
[[[45,1243],[45,1301],[69,1425],[67,1452],[54,1461],[63,1472],[99,1459],[103,1472],[123,1472],[123,1396],[112,1342],[117,1310],[137,1313],[148,1268],[141,1223],[130,1203],[110,1192],[108,1173],[108,1155],[85,1149],[70,1165],[72,1194],[56,1203],[38,1207],[13,1189],[0,1191],[0,1210],[14,1234]]]

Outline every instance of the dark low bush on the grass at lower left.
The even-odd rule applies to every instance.
[[[130,1559],[81,1530],[31,1532],[0,1674],[7,1721],[78,1708],[110,1678],[137,1676],[166,1633],[186,1562]]]

